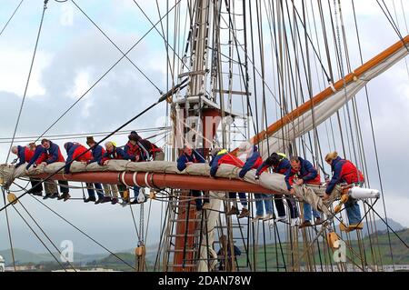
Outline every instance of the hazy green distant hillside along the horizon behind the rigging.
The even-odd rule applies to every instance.
[[[268,264],[273,267],[276,266],[276,259],[274,257],[282,255],[281,250],[278,246],[275,246],[275,238],[274,237],[274,231],[270,231],[269,227],[267,224],[264,225],[265,233],[263,233],[263,225],[262,223],[259,223],[259,228],[258,228],[258,245],[263,245],[263,241],[265,238],[265,245],[266,245],[266,255],[267,255],[267,260],[269,261]],[[390,247],[389,247],[389,241],[388,241],[388,235],[386,234],[386,225],[380,220],[377,220],[375,222],[376,229],[377,229],[377,244],[379,247],[373,247],[371,248],[371,245],[369,243],[369,239],[366,236],[366,229],[364,228],[363,234],[365,236],[364,238],[364,248],[365,252],[367,253],[366,255],[370,259],[373,249],[376,250],[377,256],[380,256],[380,258],[383,261],[383,264],[391,264],[392,259],[390,255]],[[406,242],[406,244],[409,244],[409,229],[404,229],[403,225],[400,225],[399,223],[395,222],[392,219],[389,219],[389,225],[394,228],[398,232],[398,235],[401,236],[401,238]],[[235,245],[240,247],[242,251],[244,250],[244,245],[243,245],[243,240],[241,240],[241,236],[244,236],[244,240],[246,240],[246,227],[242,229],[242,232],[234,229],[234,238],[235,240]],[[289,245],[285,243],[286,239],[286,231],[284,229],[284,225],[280,223],[280,225],[277,225],[278,233],[280,236],[280,240],[282,242],[282,247],[283,247],[283,254],[285,259],[288,258],[288,253],[287,249],[290,248]],[[254,231],[257,232],[257,228],[254,225]],[[351,235],[352,239],[354,239],[355,234]],[[391,237],[391,242],[392,242],[392,248],[393,248],[393,253],[394,253],[394,263],[395,264],[409,264],[409,249],[407,249],[401,241],[393,234],[390,233]],[[278,243],[278,241],[277,241]],[[216,250],[218,249],[218,245],[215,245]],[[358,248],[356,246],[356,242],[353,241],[353,247],[354,251],[356,253],[358,252]],[[277,254],[276,249],[279,251]],[[156,258],[156,251],[157,251],[157,245],[148,245],[146,246],[146,264],[148,265],[148,268],[151,268],[152,265],[155,264],[155,258]],[[124,251],[119,251],[118,255],[121,259],[125,260],[126,263],[129,265],[135,265],[135,255],[134,255],[135,249],[128,249]],[[253,249],[252,249],[253,251]],[[251,251],[251,252],[252,252]],[[243,251],[244,252],[244,251]],[[260,264],[260,267],[264,267],[264,248],[262,246],[256,247],[256,256],[257,256],[257,265]],[[11,265],[12,263],[12,256],[10,250],[3,250],[0,251],[0,255],[2,255],[5,258],[6,265]],[[115,255],[109,255],[109,254],[97,254],[97,255],[84,255],[81,253],[75,253],[74,254],[74,260],[75,260],[75,265],[83,265],[83,266],[104,266],[106,268],[113,268],[115,270],[121,270],[121,271],[130,271],[132,270],[128,265],[125,265],[122,261],[120,261],[118,258],[115,257]],[[253,255],[253,254],[250,254]],[[55,254],[56,257],[59,257],[59,254]],[[280,259],[279,259],[280,260]],[[55,259],[50,255],[50,254],[35,254],[31,253],[29,251],[25,251],[23,249],[15,249],[15,261],[17,265],[25,265],[28,263],[32,264],[53,264],[55,263]],[[242,255],[239,259],[241,265],[245,265],[245,258],[244,255]],[[282,262],[282,259],[280,260]],[[278,264],[281,262],[279,261]],[[319,256],[315,256],[315,261],[319,261]],[[318,262],[316,262],[318,263]],[[56,263],[55,263],[56,265]],[[56,268],[58,268],[56,266]]]

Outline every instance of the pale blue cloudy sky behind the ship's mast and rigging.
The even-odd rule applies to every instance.
[[[15,10],[17,0],[0,1],[0,27],[7,22]],[[150,29],[151,25],[131,0],[77,0],[75,1],[101,29],[123,51]],[[155,2],[139,1],[147,15],[154,22],[159,19]],[[345,3],[344,21],[347,32],[353,35],[352,11],[349,1]],[[407,35],[404,14],[409,16],[409,3],[395,0],[385,1],[392,8],[395,5],[402,35]],[[347,5],[346,5],[347,4]],[[402,10],[403,4],[404,10]],[[159,1],[162,15],[166,1]],[[356,15],[364,60],[368,60],[399,39],[375,0],[355,1]],[[34,51],[35,37],[43,12],[43,1],[24,1],[5,31],[0,35],[0,138],[11,137],[15,128],[18,109],[25,92],[25,83]],[[159,27],[159,26],[158,26]],[[172,34],[172,32],[170,32]],[[352,37],[352,36],[351,36]],[[360,65],[356,54],[356,42],[351,42],[352,66]],[[268,45],[266,45],[268,46]],[[106,40],[94,25],[70,1],[59,4],[49,1],[45,20],[35,57],[33,74],[28,86],[23,115],[17,129],[17,136],[41,135],[45,129],[73,104],[78,96],[105,73],[121,57],[121,53]],[[135,65],[161,90],[166,91],[165,45],[160,35],[153,30],[129,54]],[[406,57],[406,61],[408,61]],[[268,72],[267,72],[268,73]],[[409,197],[405,180],[408,175],[409,135],[409,73],[405,61],[401,61],[368,85],[374,134],[383,177],[384,196],[388,216],[402,225],[409,226]],[[267,74],[274,87],[274,73]],[[318,83],[318,82],[317,82]],[[314,88],[319,92],[318,85]],[[49,135],[111,131],[125,123],[159,97],[158,90],[151,85],[127,60],[122,60],[95,87],[47,133]],[[372,144],[369,115],[365,109],[365,96],[356,96],[362,118],[364,141],[367,145],[369,174],[373,186],[379,187],[374,145]],[[274,102],[271,102],[273,104]],[[269,103],[270,105],[270,103]],[[166,105],[157,105],[149,114],[138,118],[126,129],[150,128],[165,125]],[[276,115],[269,116],[274,122]],[[144,136],[147,136],[145,134]],[[66,140],[68,141],[68,140]],[[125,144],[124,136],[116,136],[118,144]],[[63,144],[65,141],[60,141]],[[82,141],[85,143],[85,140]],[[0,144],[0,158],[5,162],[9,144]],[[339,147],[336,148],[340,150]],[[9,160],[10,161],[10,160]],[[81,192],[75,193],[81,197]],[[101,253],[104,250],[78,234],[45,207],[30,197],[22,199],[35,219],[59,244],[73,240],[75,249],[84,254]],[[136,233],[129,206],[85,205],[73,200],[67,203],[49,201],[55,211],[64,215],[75,225],[97,239],[111,250],[122,250],[136,246]],[[155,245],[162,220],[159,202],[154,202],[149,218],[147,245]],[[145,205],[145,213],[149,204]],[[135,217],[139,220],[139,207],[135,206]],[[381,212],[382,206],[377,207]],[[160,218],[159,218],[160,217]],[[9,211],[15,247],[44,253],[45,249],[29,232],[24,222]],[[145,216],[145,222],[148,217]],[[0,213],[0,249],[7,248],[8,237],[5,213]]]

